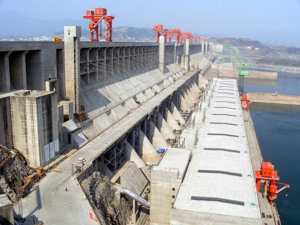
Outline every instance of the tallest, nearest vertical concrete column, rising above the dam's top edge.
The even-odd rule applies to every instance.
[[[65,97],[80,111],[80,26],[64,26]],[[76,57],[75,57],[76,55]],[[77,84],[77,85],[76,85]]]

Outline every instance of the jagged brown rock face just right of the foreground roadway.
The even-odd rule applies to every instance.
[[[107,176],[93,172],[80,185],[91,203],[100,224],[125,225],[132,211],[125,198],[116,199],[112,184]]]

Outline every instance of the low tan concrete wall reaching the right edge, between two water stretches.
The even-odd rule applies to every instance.
[[[284,95],[273,93],[247,93],[248,98],[255,102],[275,104],[296,104],[300,105],[300,96]]]

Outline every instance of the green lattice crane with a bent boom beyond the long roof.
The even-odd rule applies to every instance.
[[[235,69],[238,72],[238,91],[239,91],[240,94],[243,94],[243,78],[244,78],[244,76],[249,75],[249,71],[244,70],[244,67],[249,66],[249,64],[245,63],[239,57],[236,49],[232,46],[231,43],[223,45],[223,50],[221,51],[221,53],[219,55],[223,54],[223,52],[225,50],[228,50],[228,53],[229,53],[230,58],[232,60],[232,64],[235,66]]]

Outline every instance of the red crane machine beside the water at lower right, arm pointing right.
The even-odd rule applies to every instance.
[[[270,204],[273,203],[274,199],[277,199],[278,192],[280,192],[286,187],[289,187],[289,184],[276,182],[279,180],[279,176],[277,170],[274,169],[274,165],[272,165],[272,163],[270,162],[261,162],[261,167],[255,169],[254,172],[255,172],[256,187],[258,192],[259,192],[261,180],[264,180],[263,186],[265,188],[265,193],[266,193],[266,184],[267,182],[269,183],[268,197],[270,200]],[[283,184],[284,186],[281,187],[279,190],[277,190],[277,186],[275,185],[276,183]]]

